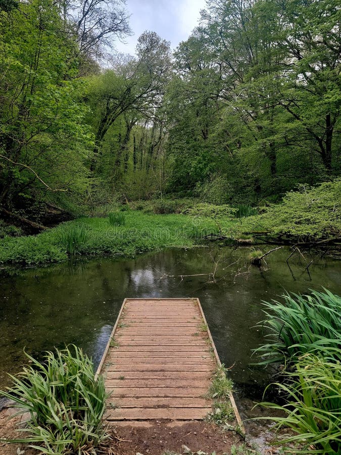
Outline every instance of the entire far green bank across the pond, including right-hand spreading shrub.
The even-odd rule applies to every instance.
[[[191,248],[208,239],[319,247],[332,244],[337,248],[341,244],[340,191],[341,180],[335,180],[290,192],[281,204],[243,217],[238,217],[240,209],[235,207],[193,201],[184,205],[179,200],[154,203],[153,210],[158,212],[181,212],[170,214],[151,213],[150,207],[142,211],[121,206],[108,217],[78,218],[36,236],[5,236],[0,264],[42,265],[66,261],[69,254],[134,257],[165,248]]]

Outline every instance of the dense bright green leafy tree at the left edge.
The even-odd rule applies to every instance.
[[[82,191],[91,135],[83,125],[73,74],[74,44],[61,33],[52,0],[0,13],[0,204],[18,195]]]

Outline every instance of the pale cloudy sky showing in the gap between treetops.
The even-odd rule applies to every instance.
[[[134,35],[125,38],[126,44],[116,41],[116,49],[134,55],[137,38],[144,30],[157,32],[171,42],[172,49],[176,48],[198,25],[205,3],[205,0],[127,0]]]

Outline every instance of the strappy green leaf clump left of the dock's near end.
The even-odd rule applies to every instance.
[[[25,442],[45,453],[95,453],[106,438],[104,379],[95,379],[91,360],[76,346],[47,352],[44,363],[31,362],[14,385],[1,394],[14,400],[18,414],[29,413],[27,436],[7,442]],[[40,445],[41,444],[41,445]]]

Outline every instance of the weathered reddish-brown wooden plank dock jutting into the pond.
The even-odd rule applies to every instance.
[[[202,420],[219,365],[199,299],[125,299],[97,371],[112,392],[106,420]]]

